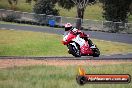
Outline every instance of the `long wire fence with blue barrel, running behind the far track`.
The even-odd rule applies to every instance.
[[[70,22],[74,27],[81,25],[85,30],[132,33],[132,23],[89,19],[81,21],[80,18],[35,14],[5,9],[0,9],[0,20],[20,24],[50,25],[55,27],[63,27],[65,23]]]

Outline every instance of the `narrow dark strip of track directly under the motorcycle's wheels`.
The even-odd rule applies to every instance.
[[[90,57],[90,56],[84,56],[84,57],[20,57],[20,56],[1,56],[0,59],[35,59],[35,60],[131,60],[132,57]]]

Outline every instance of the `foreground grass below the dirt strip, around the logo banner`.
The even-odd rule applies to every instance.
[[[130,74],[131,64],[82,66],[88,74]],[[0,88],[131,88],[129,84],[76,83],[78,66],[28,66],[0,69]]]

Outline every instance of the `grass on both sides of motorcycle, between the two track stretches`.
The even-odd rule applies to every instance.
[[[67,47],[61,40],[57,34],[0,30],[0,56],[67,56]],[[92,40],[101,54],[132,53],[132,44]]]

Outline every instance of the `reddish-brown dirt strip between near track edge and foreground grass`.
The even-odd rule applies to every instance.
[[[34,59],[0,59],[0,68],[9,68],[16,66],[32,66],[32,65],[54,65],[54,66],[68,66],[68,65],[108,65],[108,64],[126,64],[132,61],[119,60],[34,60]]]

